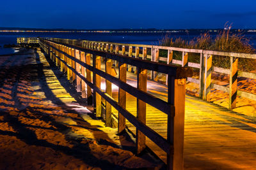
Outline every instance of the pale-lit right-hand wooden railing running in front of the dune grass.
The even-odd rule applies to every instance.
[[[65,43],[68,45],[81,46],[92,50],[101,50],[113,52],[116,54],[128,55],[129,57],[151,60],[154,62],[163,62],[166,64],[177,64],[179,66],[189,66],[195,69],[199,69],[199,78],[188,77],[187,81],[197,83],[199,85],[199,97],[206,101],[209,101],[209,92],[211,88],[223,90],[229,93],[229,108],[233,110],[236,108],[237,96],[246,97],[248,99],[256,100],[256,95],[241,90],[237,90],[237,76],[256,79],[255,73],[248,73],[244,71],[238,71],[237,64],[238,59],[256,59],[256,54],[250,53],[235,53],[235,52],[218,52],[211,50],[198,50],[189,48],[175,48],[171,46],[156,46],[156,45],[136,45],[136,44],[124,44],[124,43],[111,43],[101,41],[85,41],[76,39],[58,39],[47,38],[51,41]],[[160,56],[159,51],[165,51],[167,56]],[[173,52],[182,53],[181,60],[173,59]],[[188,58],[191,54],[197,53],[200,56],[198,63],[188,62]],[[212,66],[212,57],[230,57],[230,69],[224,69],[221,67]],[[115,62],[117,64],[117,62]],[[117,66],[117,65],[116,65]],[[128,66],[128,71],[136,72],[136,67]],[[206,71],[205,71],[206,70]],[[229,87],[212,83],[211,73],[212,71],[217,73],[230,74]],[[151,71],[150,77],[152,80],[157,80],[157,72]],[[166,85],[168,85],[168,74],[166,74]]]

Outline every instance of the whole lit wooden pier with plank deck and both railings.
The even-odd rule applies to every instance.
[[[237,74],[255,76],[237,71],[237,57],[256,59],[256,55],[55,38],[40,39],[39,43],[76,83],[77,92],[93,103],[97,117],[108,126],[116,121],[119,133],[127,127],[134,134],[136,153],[147,145],[168,169],[255,167],[255,120],[230,110],[236,108],[237,94],[255,97],[237,92],[236,82]],[[167,50],[168,56],[160,57],[160,50]],[[182,60],[173,59],[175,50],[182,52]],[[200,63],[188,62],[189,53],[198,53]],[[214,55],[230,56],[230,70],[212,67]],[[199,69],[199,80],[191,78],[187,66]],[[211,83],[212,70],[232,75],[229,90]],[[156,82],[159,73],[166,75],[166,85]],[[187,96],[185,106],[186,78],[199,83],[205,101]],[[230,110],[207,103],[211,87],[230,93]]]

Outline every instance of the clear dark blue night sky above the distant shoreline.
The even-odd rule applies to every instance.
[[[256,28],[256,0],[1,1],[0,27]]]

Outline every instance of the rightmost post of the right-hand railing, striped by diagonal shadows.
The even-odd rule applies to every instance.
[[[229,74],[229,108],[236,108],[237,98],[237,63],[238,58],[230,57],[230,74]]]

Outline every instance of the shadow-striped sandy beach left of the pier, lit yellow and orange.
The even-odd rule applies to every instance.
[[[39,48],[0,57],[0,169],[159,167],[97,120],[51,64]]]

